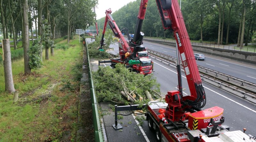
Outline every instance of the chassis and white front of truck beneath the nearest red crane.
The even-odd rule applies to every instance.
[[[220,117],[217,117],[215,119],[216,121],[213,121],[216,116],[210,121],[211,125],[204,129],[193,130],[193,128],[189,128],[189,119],[177,122],[168,121],[169,123],[165,123],[158,116],[160,115],[159,110],[165,109],[167,106],[168,104],[162,101],[149,102],[148,113],[145,114],[149,130],[155,131],[158,142],[256,142],[256,138],[242,131],[229,131],[227,125],[221,125],[224,120],[218,120]],[[201,111],[205,112],[208,110]],[[222,114],[219,116],[222,116]],[[193,121],[193,124],[200,122],[200,120],[196,120],[196,122]]]

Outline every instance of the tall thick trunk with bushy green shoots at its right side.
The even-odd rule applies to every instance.
[[[23,0],[23,33],[22,33],[22,45],[24,50],[24,72],[30,74],[31,69],[29,67],[29,32],[28,32],[28,0]]]

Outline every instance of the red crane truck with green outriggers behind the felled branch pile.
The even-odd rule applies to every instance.
[[[115,65],[117,63],[121,63],[121,64],[124,64],[127,68],[130,68],[131,71],[135,71],[143,75],[152,73],[152,64],[153,64],[152,60],[149,59],[148,57],[141,56],[142,54],[144,54],[144,53],[141,53],[141,51],[145,51],[146,49],[143,46],[130,47],[128,45],[128,43],[124,39],[123,34],[121,33],[118,26],[116,25],[115,20],[112,18],[111,12],[112,12],[111,9],[108,9],[105,12],[106,18],[105,18],[99,50],[104,51],[103,49],[103,46],[105,45],[104,35],[105,35],[107,23],[108,23],[115,37],[119,39],[118,47],[119,47],[119,55],[120,55],[120,58],[110,59],[109,61],[111,63],[110,66],[112,68],[115,68]],[[108,61],[105,61],[104,63],[108,63]]]

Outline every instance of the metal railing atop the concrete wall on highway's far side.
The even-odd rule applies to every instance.
[[[145,40],[153,40],[153,41],[164,41],[175,44],[176,41],[172,39],[157,39],[157,38],[150,38],[150,37],[143,37]],[[204,46],[210,48],[219,48],[219,49],[228,49],[228,50],[236,50],[236,51],[244,51],[244,52],[252,52],[256,53],[256,48],[250,47],[237,47],[237,46],[230,46],[230,45],[221,45],[221,44],[214,44],[214,43],[200,43],[200,42],[191,42],[192,46]]]

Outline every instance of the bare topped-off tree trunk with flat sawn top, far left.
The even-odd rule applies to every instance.
[[[15,92],[13,78],[12,78],[12,60],[11,60],[11,48],[10,40],[3,40],[3,54],[4,54],[4,82],[5,82],[5,91],[9,93]]]

